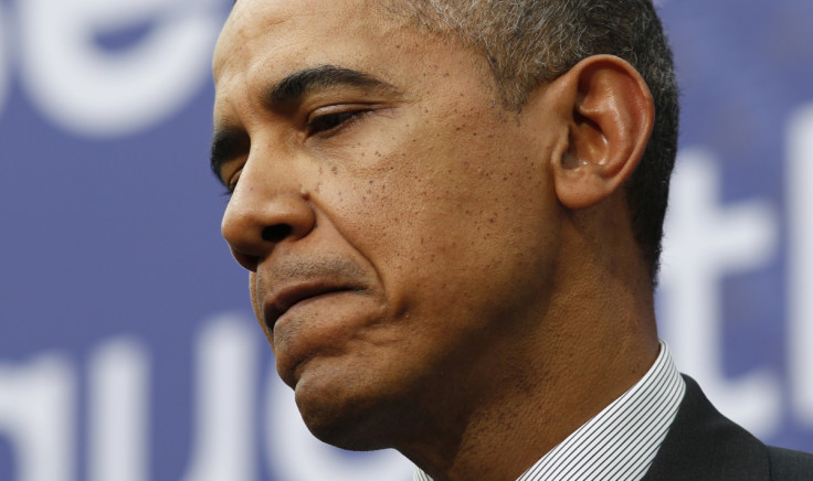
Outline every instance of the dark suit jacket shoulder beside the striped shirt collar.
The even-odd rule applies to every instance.
[[[767,447],[684,378],[686,395],[644,481],[813,481],[813,455]]]

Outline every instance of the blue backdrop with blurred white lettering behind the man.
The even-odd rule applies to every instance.
[[[0,479],[405,481],[305,432],[220,237],[231,0],[0,0]],[[661,2],[683,88],[658,295],[682,371],[813,450],[813,2]]]

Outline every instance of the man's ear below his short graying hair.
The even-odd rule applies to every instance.
[[[590,207],[637,167],[655,121],[652,94],[632,65],[612,55],[588,57],[553,83],[569,124],[568,146],[551,160],[556,193],[569,209]]]

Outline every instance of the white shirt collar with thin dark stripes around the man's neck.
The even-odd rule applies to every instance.
[[[517,481],[640,481],[675,420],[686,392],[669,349],[621,397],[557,445]],[[418,469],[414,481],[432,481]]]

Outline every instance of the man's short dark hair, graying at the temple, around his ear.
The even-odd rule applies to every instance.
[[[655,284],[679,108],[672,51],[652,0],[397,0],[391,6],[485,55],[504,103],[515,110],[534,87],[592,55],[616,55],[641,73],[656,118],[626,195]]]

